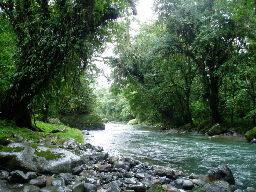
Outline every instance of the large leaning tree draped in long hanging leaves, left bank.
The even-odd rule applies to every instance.
[[[129,2],[129,3],[127,3]],[[79,79],[88,59],[108,41],[114,23],[133,1],[0,1],[18,39],[12,88],[3,95],[0,116],[17,126],[31,124],[32,100],[49,88]],[[73,79],[71,79],[73,78]]]

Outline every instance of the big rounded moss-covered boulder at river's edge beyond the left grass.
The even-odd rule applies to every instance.
[[[100,116],[96,114],[71,112],[66,114],[60,120],[65,125],[80,130],[105,129],[105,124],[103,123]]]

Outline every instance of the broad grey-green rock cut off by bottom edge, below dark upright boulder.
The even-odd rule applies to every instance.
[[[200,185],[193,190],[193,192],[233,192],[231,186],[226,181],[213,181]]]

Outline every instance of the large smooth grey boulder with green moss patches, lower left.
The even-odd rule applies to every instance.
[[[3,167],[44,174],[68,173],[85,161],[65,149],[32,143],[11,143],[0,152]]]

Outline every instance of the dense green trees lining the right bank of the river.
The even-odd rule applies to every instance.
[[[141,120],[180,126],[248,117],[255,124],[255,6],[156,0],[157,21],[134,38],[128,27],[118,34],[112,87],[122,88]]]

